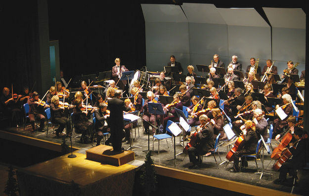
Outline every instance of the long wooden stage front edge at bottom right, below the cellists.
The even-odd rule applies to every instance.
[[[176,178],[183,181],[202,184],[210,187],[216,187],[219,189],[229,190],[237,193],[248,194],[253,196],[291,196],[290,193],[277,191],[273,189],[267,189],[264,187],[249,185],[245,183],[235,182],[231,180],[225,180],[203,174],[197,174],[189,171],[183,171],[180,169],[170,168],[161,165],[155,165],[156,173],[158,175]],[[292,194],[294,195],[294,194]]]

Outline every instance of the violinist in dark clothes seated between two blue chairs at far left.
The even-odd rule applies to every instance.
[[[44,110],[48,107],[47,104],[44,106],[39,105],[39,93],[36,91],[33,92],[32,98],[28,99],[28,104],[29,104],[29,119],[30,123],[32,126],[32,131],[35,131],[35,118],[40,120],[40,128],[38,131],[44,132],[44,122],[45,122],[45,117],[44,117]]]

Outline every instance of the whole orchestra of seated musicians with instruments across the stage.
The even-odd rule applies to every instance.
[[[297,78],[298,69],[296,69],[298,64],[294,64],[292,61],[287,62],[287,68],[279,77],[284,79],[284,81],[277,89],[278,86],[275,84],[279,83],[275,81],[274,76],[278,75],[278,71],[274,61],[266,60],[266,64],[261,71],[261,67],[258,65],[259,59],[256,61],[255,58],[251,58],[250,65],[245,72],[248,74],[247,78],[240,78],[240,76],[234,74],[234,71],[237,71],[237,73],[242,72],[242,65],[237,59],[237,56],[232,56],[231,63],[224,67],[224,63],[219,60],[219,55],[215,54],[214,61],[212,61],[209,69],[209,79],[207,83],[202,85],[194,85],[193,77],[197,77],[197,74],[194,72],[192,65],[187,66],[188,74],[186,75],[185,82],[182,81],[180,86],[177,85],[178,81],[166,78],[165,74],[169,73],[165,72],[156,72],[157,77],[154,79],[155,84],[153,86],[150,85],[149,81],[146,84],[141,83],[141,79],[138,78],[132,81],[133,85],[130,86],[129,94],[131,94],[131,100],[133,101],[128,97],[124,101],[126,111],[121,112],[125,115],[138,111],[138,114],[141,114],[142,126],[145,130],[144,134],[149,133],[150,126],[152,127],[150,134],[157,134],[156,128],[161,124],[163,131],[166,132],[168,120],[179,122],[175,109],[183,111],[183,107],[187,107],[187,123],[192,127],[192,131],[187,131],[186,135],[183,136],[183,140],[190,141],[192,137],[197,139],[194,146],[187,149],[190,162],[193,163],[190,168],[194,169],[200,167],[196,157],[210,152],[214,147],[217,135],[221,134],[220,141],[227,139],[223,127],[228,122],[231,122],[232,131],[237,136],[243,137],[243,145],[233,153],[233,168],[230,169],[230,172],[239,172],[240,164],[242,166],[248,164],[245,159],[243,159],[243,162],[239,162],[239,157],[244,154],[254,153],[261,136],[267,141],[270,137],[269,125],[272,124],[273,134],[272,138],[269,139],[280,141],[287,133],[290,133],[293,135],[291,141],[294,142],[293,145],[289,143],[292,146],[288,147],[293,154],[293,158],[281,166],[279,180],[276,180],[276,183],[280,184],[286,180],[286,173],[290,168],[295,170],[299,166],[292,165],[291,163],[295,162],[296,159],[303,158],[297,157],[299,155],[297,152],[303,148],[301,146],[303,140],[299,139],[307,134],[301,126],[296,125],[298,123],[296,118],[300,120],[302,118],[301,115],[295,117],[293,113],[296,109],[302,109],[297,104],[301,100],[299,99],[298,88],[295,85],[295,81],[299,81]],[[177,74],[181,74],[183,71],[181,64],[175,61],[173,55],[170,61],[169,65],[178,67]],[[22,123],[26,123],[22,120],[22,112],[24,110],[23,105],[28,104],[30,107],[29,118],[32,125],[31,132],[36,130],[44,132],[44,123],[46,121],[44,110],[50,108],[51,121],[59,125],[55,129],[56,137],[60,137],[64,131],[66,131],[66,134],[72,131],[72,120],[75,132],[82,134],[81,143],[89,142],[88,139],[93,137],[93,134],[90,133],[94,129],[96,131],[96,145],[98,146],[103,139],[103,133],[109,132],[110,125],[114,123],[109,120],[110,111],[107,110],[109,108],[108,103],[110,100],[115,100],[115,92],[120,91],[119,89],[123,92],[127,84],[126,80],[119,79],[122,73],[128,71],[128,69],[125,66],[120,66],[119,58],[115,59],[115,64],[112,67],[111,77],[113,79],[108,81],[108,85],[105,84],[105,90],[102,93],[95,91],[93,86],[91,86],[91,81],[89,81],[89,84],[86,81],[82,81],[81,88],[73,92],[70,91],[70,87],[62,86],[62,81],[56,81],[55,86],[50,86],[42,99],[39,99],[39,93],[36,91],[30,92],[28,87],[23,88],[21,95],[12,94],[13,91],[10,93],[10,89],[4,87],[0,98],[1,108],[4,111],[3,114],[9,117],[11,125],[18,128]],[[217,75],[216,67],[227,69],[226,75],[224,77]],[[256,78],[256,74],[261,76],[260,80]],[[302,77],[301,79],[305,78],[304,71],[302,71]],[[214,78],[221,78],[223,84],[216,83],[215,86],[216,80],[213,80]],[[262,87],[259,84],[259,89],[255,89],[255,82],[253,81],[262,83]],[[172,91],[168,90],[174,87],[174,82],[179,92],[172,94]],[[67,84],[66,82],[64,83]],[[202,92],[205,91],[209,96],[194,94],[195,90],[193,89],[196,88]],[[146,93],[147,96],[145,100],[143,93]],[[159,100],[161,96],[170,98],[173,96],[173,101],[164,105]],[[92,103],[94,103],[93,107],[91,106]],[[161,104],[164,115],[155,116],[151,114],[148,109],[148,103]],[[71,113],[73,113],[72,119],[69,118]],[[92,116],[92,114],[94,115]],[[95,118],[94,126],[91,117]],[[39,129],[35,127],[36,119],[39,121]],[[138,124],[133,123],[133,127],[136,126]],[[197,126],[196,134],[193,128],[195,126]],[[131,127],[131,123],[123,123],[123,137],[117,135],[117,137],[122,137],[121,139],[124,138],[122,142],[126,142],[126,144],[129,144],[131,141]],[[189,135],[190,137],[188,137]],[[111,138],[106,141],[106,144],[109,145],[113,142],[116,145],[116,142],[118,143],[119,140],[115,141]],[[119,144],[116,146],[118,148]],[[294,155],[297,156],[294,157]]]

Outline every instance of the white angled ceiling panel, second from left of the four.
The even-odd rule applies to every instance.
[[[189,22],[226,24],[214,4],[183,3],[182,8]]]

